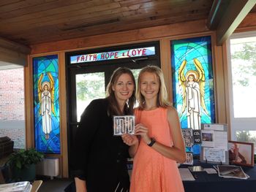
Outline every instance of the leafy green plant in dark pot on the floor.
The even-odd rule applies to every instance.
[[[7,164],[12,170],[12,179],[17,181],[33,181],[36,177],[35,165],[42,161],[43,153],[31,148],[29,150],[18,150],[10,155]]]

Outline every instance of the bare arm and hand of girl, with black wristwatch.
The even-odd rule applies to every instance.
[[[152,148],[167,158],[183,163],[186,160],[184,140],[181,135],[178,113],[173,107],[167,110],[167,120],[173,137],[173,146],[166,146],[155,142]],[[138,127],[135,128],[135,133],[139,134],[146,144],[151,142],[151,138],[148,137],[148,128],[143,126],[143,124],[138,124]]]

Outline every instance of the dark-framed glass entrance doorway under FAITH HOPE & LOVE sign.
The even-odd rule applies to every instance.
[[[147,50],[154,50],[154,53]],[[102,55],[104,56],[103,60]],[[110,55],[113,57],[110,58]],[[125,57],[125,55],[129,56]],[[89,59],[86,60],[86,58]],[[132,69],[137,81],[138,73],[144,66],[156,65],[160,67],[159,42],[66,53],[66,64],[67,134],[70,162],[71,149],[74,145],[75,133],[78,130],[80,115],[87,105],[94,99],[105,98],[106,87],[116,68],[126,66]],[[70,169],[69,166],[69,171],[71,171]]]

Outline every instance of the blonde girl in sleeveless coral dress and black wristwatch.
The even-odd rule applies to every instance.
[[[167,101],[162,70],[146,66],[140,71],[136,93],[135,134],[124,135],[134,158],[131,192],[184,191],[176,162],[186,159],[178,113]]]

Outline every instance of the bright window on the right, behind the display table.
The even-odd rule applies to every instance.
[[[231,139],[256,144],[256,31],[233,34],[229,45]]]

